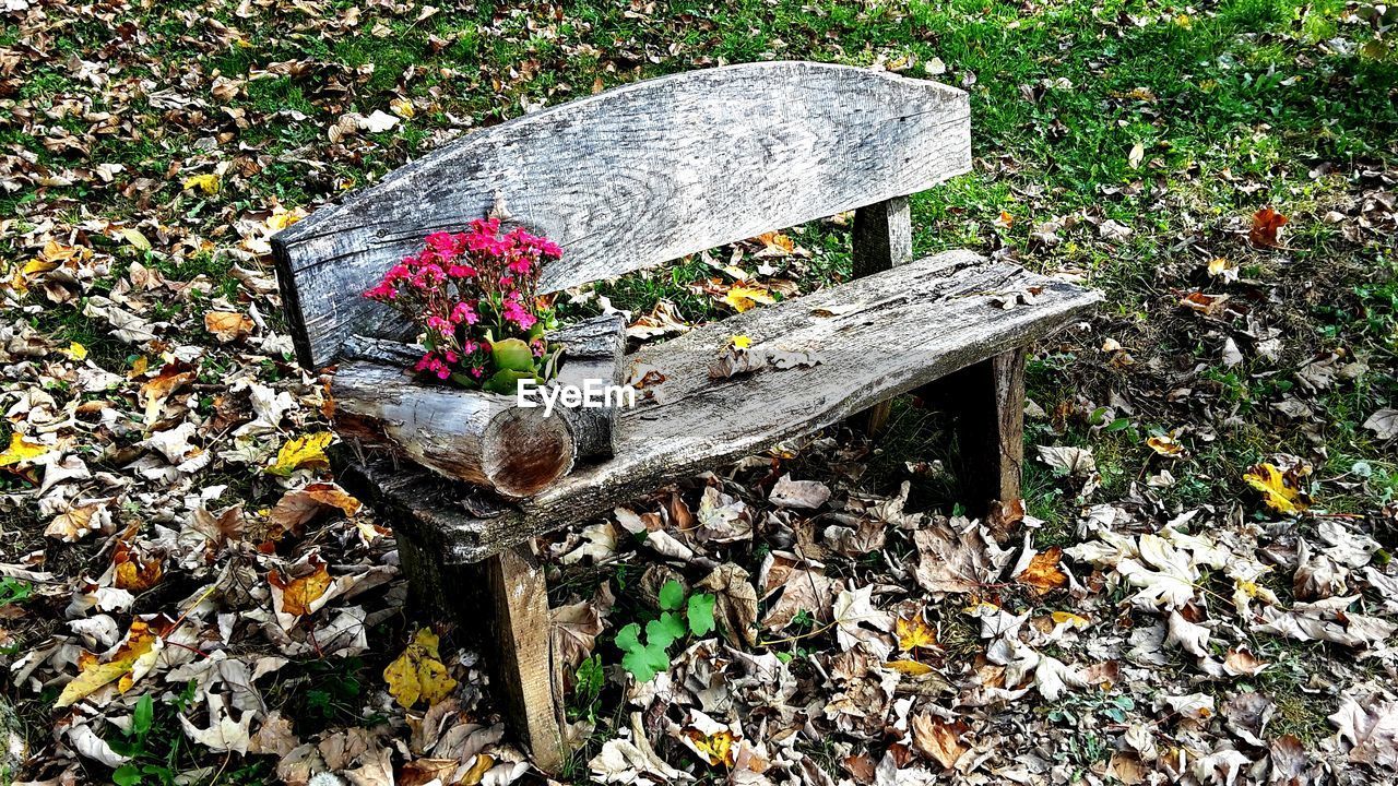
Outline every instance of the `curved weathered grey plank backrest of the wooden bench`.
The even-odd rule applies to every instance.
[[[544,291],[911,194],[970,168],[965,92],[777,62],[619,87],[477,131],[273,238],[308,368],[405,323],[361,292],[503,204],[563,248]]]

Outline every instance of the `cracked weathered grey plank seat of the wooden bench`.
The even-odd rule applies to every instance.
[[[1037,292],[1033,305],[1000,308],[997,295],[1026,290]],[[431,530],[445,561],[473,562],[1023,347],[1099,299],[1011,263],[948,252],[643,347],[628,357],[630,373],[654,369],[665,379],[622,414],[617,456],[517,505],[387,463],[347,474],[370,502]],[[734,334],[823,362],[713,382],[709,365]]]

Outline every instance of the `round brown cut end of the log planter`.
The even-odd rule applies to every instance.
[[[573,469],[573,432],[562,417],[545,417],[544,410],[505,410],[487,431],[489,450],[481,470],[491,485],[506,496],[531,496]],[[527,449],[519,446],[527,445]]]

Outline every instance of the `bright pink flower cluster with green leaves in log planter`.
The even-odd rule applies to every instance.
[[[513,393],[517,379],[544,376],[554,315],[538,296],[556,243],[498,218],[468,232],[435,232],[426,248],[394,264],[363,296],[391,306],[422,330],[426,352],[415,371],[466,387]]]

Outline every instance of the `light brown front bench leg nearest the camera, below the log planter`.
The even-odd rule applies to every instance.
[[[568,750],[562,731],[562,683],[554,670],[544,571],[528,544],[491,557],[481,569],[493,606],[493,625],[488,641],[493,652],[487,653],[491,681],[530,758],[544,772],[556,775],[568,761]]]

